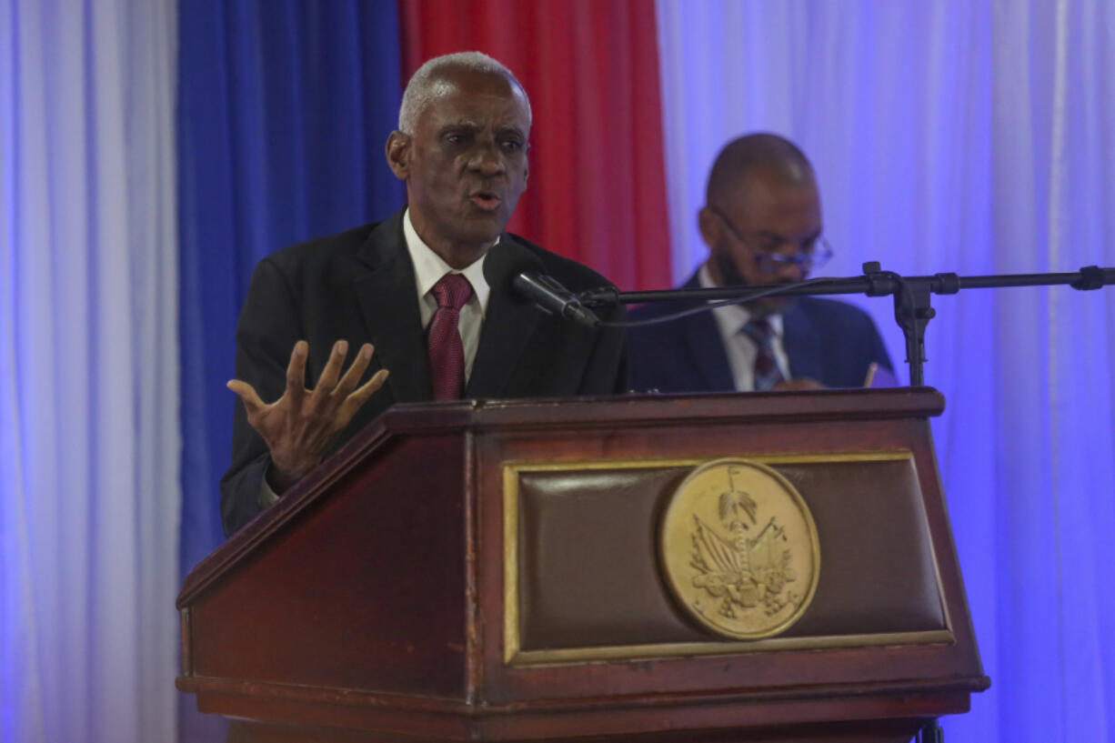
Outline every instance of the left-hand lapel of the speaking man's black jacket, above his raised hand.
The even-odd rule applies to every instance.
[[[355,281],[357,301],[387,387],[397,402],[428,401],[429,356],[415,295],[415,272],[403,238],[403,211],[380,223],[358,253],[370,269]]]

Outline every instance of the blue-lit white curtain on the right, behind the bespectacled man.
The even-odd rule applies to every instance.
[[[794,139],[828,274],[1115,264],[1115,4],[658,2],[673,276],[717,151]],[[863,300],[902,360],[889,300]],[[1113,740],[1115,290],[937,297],[927,383],[989,692],[949,741]]]

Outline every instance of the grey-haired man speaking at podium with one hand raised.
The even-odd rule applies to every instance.
[[[239,399],[221,479],[226,534],[392,403],[627,388],[621,331],[511,292],[520,271],[574,292],[608,284],[503,231],[526,189],[530,129],[530,100],[506,67],[479,52],[432,59],[387,139],[407,206],[256,266],[229,383]]]

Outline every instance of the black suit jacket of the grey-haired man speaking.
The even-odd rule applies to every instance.
[[[491,269],[491,270],[489,270]],[[588,329],[545,315],[507,291],[511,274],[539,270],[573,291],[607,279],[522,238],[504,234],[488,253],[492,287],[466,397],[598,395],[627,389],[622,331]],[[340,446],[396,402],[432,399],[426,338],[415,296],[414,266],[403,237],[403,211],[378,224],[311,240],[264,258],[252,274],[236,325],[236,378],[265,402],[285,387],[294,342],[310,345],[307,386],[317,384],[334,341],[349,341],[352,363],[365,342],[376,347],[365,380],[390,370],[387,384],[342,432]],[[618,320],[613,312],[605,320]],[[221,517],[232,533],[259,511],[260,485],[270,463],[262,437],[237,399],[232,464],[221,479]]]

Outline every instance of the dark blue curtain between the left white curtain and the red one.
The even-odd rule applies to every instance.
[[[236,317],[256,261],[403,204],[384,145],[400,99],[394,2],[183,0],[178,51],[183,530],[223,541]],[[183,707],[184,741],[213,717]]]

